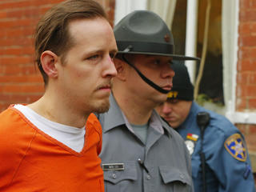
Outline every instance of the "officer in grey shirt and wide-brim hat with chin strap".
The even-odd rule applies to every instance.
[[[154,110],[172,87],[174,40],[157,14],[137,10],[114,27],[110,110],[102,124],[102,169],[106,192],[193,191],[190,154],[180,135]]]

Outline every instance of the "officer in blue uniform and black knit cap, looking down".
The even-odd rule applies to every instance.
[[[184,64],[174,63],[173,69],[173,89],[158,111],[190,150],[194,191],[255,191],[242,133],[224,116],[193,101],[194,86]]]

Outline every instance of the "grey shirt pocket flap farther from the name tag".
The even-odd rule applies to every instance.
[[[165,184],[169,182],[182,182],[184,184],[188,184],[191,186],[192,179],[190,175],[184,173],[184,171],[179,170],[174,166],[159,166],[160,174],[162,176],[162,180]]]

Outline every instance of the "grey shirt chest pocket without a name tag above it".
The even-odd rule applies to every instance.
[[[174,166],[159,166],[162,182],[167,186],[166,191],[190,191],[192,190],[192,179],[184,170]]]

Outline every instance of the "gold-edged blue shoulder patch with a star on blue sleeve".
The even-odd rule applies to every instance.
[[[246,148],[241,134],[232,134],[226,139],[224,146],[226,150],[238,161],[245,162],[247,158]]]

